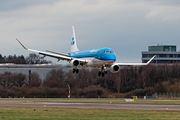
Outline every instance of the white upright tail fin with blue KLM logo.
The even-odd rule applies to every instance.
[[[75,35],[74,26],[72,26],[71,52],[75,52],[75,51],[79,51],[79,49],[77,48],[76,35]]]

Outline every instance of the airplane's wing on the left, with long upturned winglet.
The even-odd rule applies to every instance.
[[[71,61],[73,60],[72,57],[70,57],[69,55],[65,55],[65,54],[60,54],[60,53],[56,53],[56,52],[52,52],[52,51],[48,51],[48,52],[42,52],[42,51],[38,51],[38,50],[33,50],[33,49],[28,49],[26,48],[17,38],[16,40],[21,44],[21,46],[26,49],[26,50],[29,50],[29,51],[33,51],[33,52],[37,52],[39,53],[40,55],[44,55],[44,57],[48,56],[48,57],[53,57],[53,58],[56,58],[59,60],[67,60],[67,61]],[[84,63],[87,63],[86,60],[82,60],[82,59],[78,59],[80,62],[84,62]]]

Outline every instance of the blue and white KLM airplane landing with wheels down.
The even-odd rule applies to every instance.
[[[110,68],[112,73],[117,73],[122,66],[142,66],[148,65],[155,57],[155,55],[147,63],[115,63],[116,55],[111,48],[96,48],[90,50],[79,50],[76,42],[76,35],[74,26],[72,26],[71,36],[71,52],[62,54],[54,51],[46,50],[46,52],[28,49],[17,38],[16,40],[21,44],[25,50],[37,52],[44,57],[53,57],[60,60],[66,60],[73,68],[73,73],[79,73],[79,67],[86,68],[100,68],[98,76],[104,77],[107,74],[107,68]]]

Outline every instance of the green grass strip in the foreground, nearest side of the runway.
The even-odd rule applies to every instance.
[[[176,111],[0,107],[0,120],[179,120]]]

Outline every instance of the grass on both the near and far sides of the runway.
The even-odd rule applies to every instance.
[[[125,98],[1,98],[55,102],[126,103]],[[179,99],[138,99],[131,104],[180,104]],[[179,120],[179,111],[0,107],[0,120]]]

